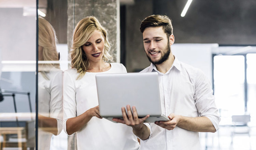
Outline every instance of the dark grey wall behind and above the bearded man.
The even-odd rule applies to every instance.
[[[125,64],[128,72],[150,65],[139,27],[141,20],[152,14],[168,15],[173,20],[175,43],[256,44],[255,0],[195,0],[185,17],[181,17],[186,2],[134,0],[133,5],[126,6]]]

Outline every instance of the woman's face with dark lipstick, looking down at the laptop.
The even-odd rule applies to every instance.
[[[104,54],[104,44],[102,32],[95,30],[89,40],[82,46],[90,63],[101,61]]]

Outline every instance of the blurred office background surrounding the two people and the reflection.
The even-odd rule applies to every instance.
[[[208,76],[222,118],[216,133],[200,133],[202,149],[256,150],[255,7],[255,0],[0,0],[0,149],[35,148],[38,12],[56,31],[62,71],[69,68],[80,19],[96,16],[108,30],[114,61],[139,72],[150,65],[141,21],[168,15],[173,54]],[[74,138],[63,131],[48,145],[75,149]]]

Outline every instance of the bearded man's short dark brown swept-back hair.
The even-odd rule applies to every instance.
[[[166,15],[151,15],[146,17],[140,25],[140,31],[141,33],[144,32],[144,30],[147,27],[163,27],[163,31],[166,33],[167,38],[172,34],[173,28],[172,28],[172,21],[171,19]]]

